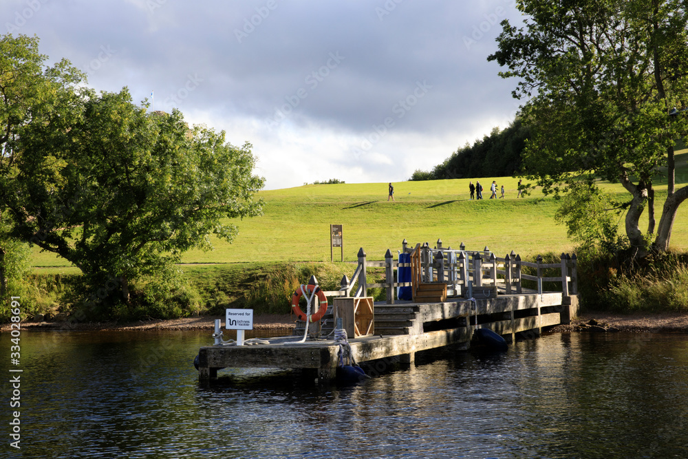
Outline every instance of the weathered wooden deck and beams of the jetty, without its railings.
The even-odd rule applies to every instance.
[[[402,362],[413,363],[416,352],[457,343],[469,347],[476,317],[480,328],[489,328],[513,341],[515,334],[537,337],[543,328],[570,323],[577,306],[575,295],[561,292],[505,294],[475,301],[461,298],[436,303],[397,301],[394,306],[376,303],[374,317],[380,328],[372,335],[350,338],[349,343],[358,363],[394,356],[400,356]],[[331,315],[330,319],[333,319]],[[395,334],[385,334],[383,330]],[[226,367],[282,367],[311,369],[319,381],[330,381],[336,374],[339,346],[330,339],[298,343],[302,337],[303,332],[299,336],[297,330],[290,337],[269,339],[269,344],[201,348],[200,379],[216,378],[217,370]]]

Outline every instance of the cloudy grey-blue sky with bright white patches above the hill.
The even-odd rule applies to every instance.
[[[407,180],[518,108],[486,61],[515,0],[3,0],[0,17],[98,90],[251,142],[266,189]]]

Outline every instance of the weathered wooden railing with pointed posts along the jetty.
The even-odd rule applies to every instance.
[[[358,288],[354,297],[367,296],[369,288],[385,288],[387,291],[387,304],[394,304],[396,288],[411,286],[413,297],[420,284],[430,282],[444,282],[447,284],[447,297],[468,297],[469,288],[489,287],[497,288],[502,295],[519,294],[524,291],[523,280],[535,281],[535,289],[543,292],[546,282],[561,284],[561,292],[565,296],[577,295],[577,258],[576,255],[561,254],[559,263],[545,264],[541,256],[535,263],[522,261],[520,255],[513,251],[505,257],[496,257],[494,253],[485,247],[484,250],[466,250],[464,244],[459,250],[451,247],[443,248],[442,241],[438,239],[437,246],[430,248],[429,244],[416,244],[409,248],[406,239],[402,242],[400,253],[411,255],[411,282],[399,283],[395,279],[398,276],[398,261],[387,250],[385,261],[367,261],[367,255],[363,248],[358,250],[358,265],[352,279],[344,276],[339,290],[327,291],[328,297],[350,297],[354,286]],[[367,268],[385,268],[385,281],[376,284],[367,283]],[[522,268],[528,267],[535,270],[535,275],[522,272]],[[559,270],[559,276],[544,277],[546,269]],[[557,290],[558,291],[558,290]]]

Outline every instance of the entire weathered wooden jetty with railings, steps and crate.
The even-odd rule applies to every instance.
[[[545,264],[541,257],[527,263],[515,253],[504,258],[484,250],[434,248],[406,240],[400,253],[410,263],[367,261],[363,249],[352,281],[342,279],[341,289],[325,292],[334,297],[319,323],[297,322],[294,335],[270,338],[269,344],[213,345],[198,354],[199,377],[208,381],[226,367],[283,367],[312,370],[325,383],[335,377],[339,345],[331,338],[337,317],[347,329],[352,356],[358,363],[397,357],[413,363],[416,352],[459,345],[469,348],[474,330],[489,328],[507,341],[517,335],[538,337],[541,330],[570,323],[578,311],[577,259],[561,254],[561,261]],[[407,266],[410,265],[410,266]],[[384,267],[383,283],[367,283],[367,268]],[[410,282],[398,282],[398,270],[411,269]],[[354,286],[358,284],[355,294]],[[396,299],[398,287],[411,288],[411,300]],[[373,303],[369,288],[385,288],[386,301]],[[299,342],[303,341],[303,342]]]

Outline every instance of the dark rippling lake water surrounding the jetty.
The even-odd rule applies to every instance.
[[[268,369],[200,385],[193,357],[212,342],[208,331],[23,331],[21,449],[9,445],[4,383],[0,457],[688,458],[686,335],[447,348],[411,367],[380,363],[353,387]],[[8,356],[8,333],[0,345]]]

